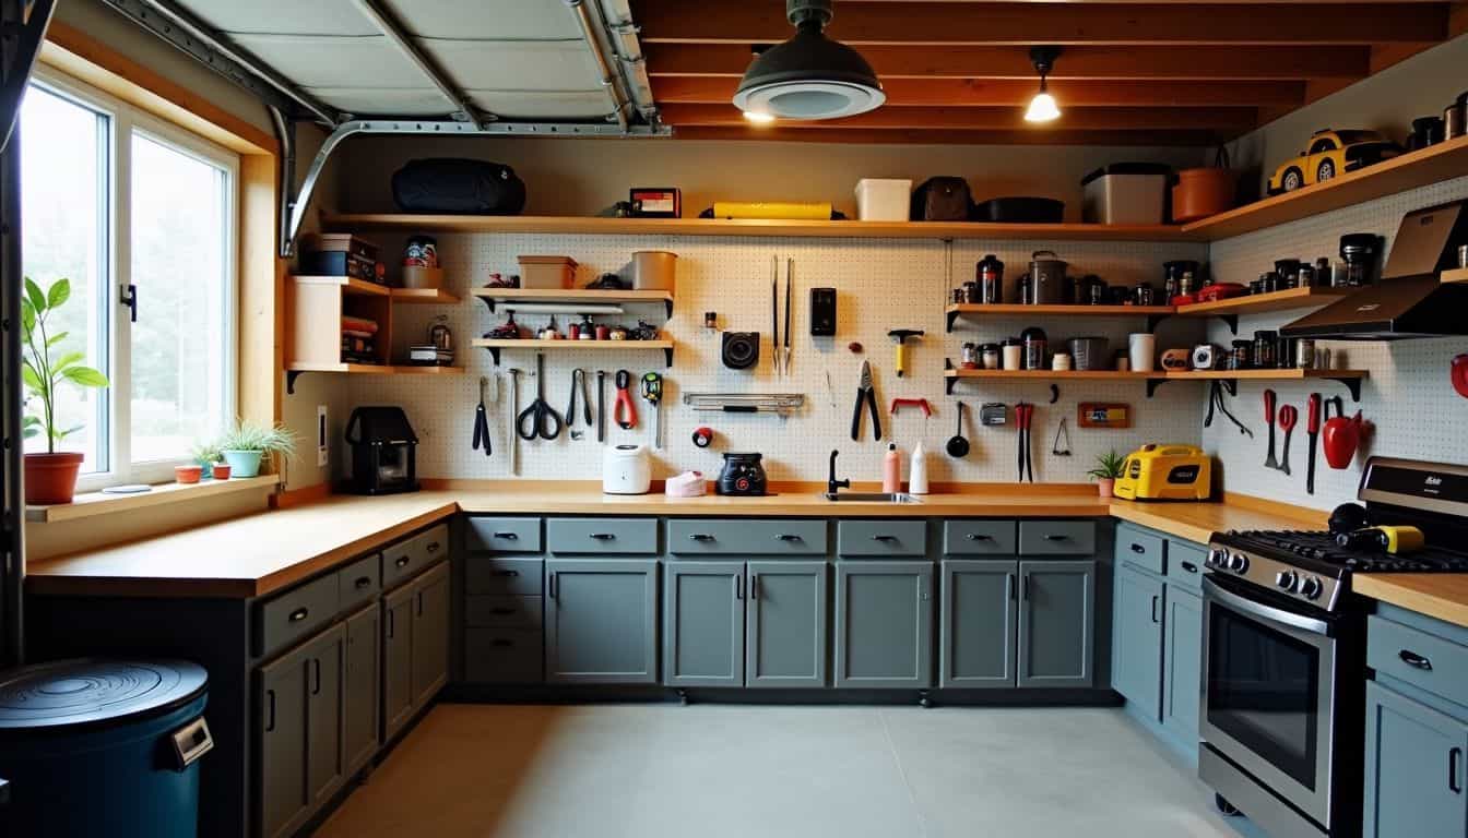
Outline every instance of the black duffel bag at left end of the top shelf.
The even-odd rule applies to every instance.
[[[518,216],[526,182],[504,163],[432,157],[393,172],[392,200],[405,213]]]

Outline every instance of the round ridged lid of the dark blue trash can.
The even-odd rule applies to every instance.
[[[0,674],[0,731],[110,724],[173,710],[208,687],[188,660],[76,657]]]

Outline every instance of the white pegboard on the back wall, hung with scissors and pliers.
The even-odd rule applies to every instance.
[[[377,235],[374,239],[390,258],[401,252],[402,236]],[[493,431],[495,455],[486,458],[470,443],[480,376],[504,373],[511,365],[527,373],[521,377],[520,404],[534,398],[537,382],[534,352],[505,349],[502,365],[495,367],[484,349],[471,349],[468,342],[504,320],[504,313],[490,314],[487,307],[467,295],[470,286],[483,285],[490,272],[517,273],[520,254],[564,254],[580,263],[577,285],[586,285],[600,273],[627,273],[631,252],[637,249],[668,249],[678,254],[677,302],[671,320],[664,324],[661,304],[631,305],[625,316],[606,316],[606,323],[631,326],[639,317],[662,326],[677,342],[674,364],[664,368],[661,352],[627,351],[608,354],[546,352],[546,399],[556,411],[565,411],[571,368],[589,370],[593,405],[596,402],[595,370],[608,371],[606,404],[615,396],[612,373],[627,368],[634,374],[656,370],[665,374],[664,423],[666,448],[653,451],[655,477],[668,477],[686,470],[700,470],[711,478],[718,474],[721,453],[757,451],[765,455],[765,467],[772,480],[812,480],[826,477],[826,462],[832,448],[841,451],[840,477],[879,480],[881,461],[888,440],[895,440],[906,453],[922,439],[929,451],[929,480],[934,481],[1009,481],[1014,480],[1017,434],[1013,424],[1004,429],[978,427],[976,408],[981,402],[1036,402],[1033,426],[1033,470],[1039,481],[1085,481],[1094,458],[1104,451],[1127,452],[1142,442],[1192,442],[1198,439],[1202,420],[1204,393],[1198,385],[1170,385],[1152,399],[1145,387],[1133,382],[1066,383],[1060,401],[1047,404],[1050,389],[1033,383],[963,382],[953,396],[944,395],[944,358],[957,362],[964,340],[986,342],[1019,335],[1025,326],[1039,326],[1048,332],[1051,345],[1082,335],[1110,338],[1113,349],[1124,349],[1126,335],[1145,329],[1141,318],[1075,318],[1038,317],[1029,320],[959,321],[954,332],[944,332],[944,304],[948,299],[948,251],[944,242],[919,239],[784,239],[784,238],[708,238],[708,236],[573,236],[573,235],[439,235],[439,258],[445,266],[446,285],[464,296],[458,305],[399,305],[393,311],[395,327],[405,351],[407,342],[426,335],[435,316],[448,316],[458,348],[458,364],[467,367],[464,376],[357,376],[351,377],[351,405],[396,404],[408,411],[418,446],[418,474],[439,478],[504,478],[509,477],[511,415],[509,395],[502,392],[498,402],[487,405]],[[1160,283],[1161,263],[1171,258],[1204,258],[1202,245],[1158,245],[1127,242],[984,242],[960,241],[951,245],[953,283],[973,277],[975,263],[985,254],[997,254],[1006,261],[1006,285],[1026,270],[1031,251],[1054,249],[1072,263],[1076,276],[1097,273],[1110,283],[1135,283],[1148,279]],[[781,329],[784,330],[785,260],[794,260],[794,292],[791,311],[791,371],[777,377],[771,362],[771,257],[780,260]],[[838,324],[835,338],[812,338],[809,329],[809,291],[815,286],[837,289]],[[719,361],[719,333],[705,329],[703,313],[718,314],[719,329],[759,332],[760,361],[747,371],[727,370]],[[548,316],[521,316],[527,326],[542,326]],[[564,327],[568,320],[558,316]],[[894,340],[890,329],[923,329],[926,336],[912,343],[909,373],[898,379],[894,373]],[[1164,323],[1160,345],[1191,345],[1202,336],[1202,326],[1191,321]],[[1169,343],[1169,340],[1171,343]],[[847,349],[860,342],[860,355]],[[873,442],[869,420],[863,418],[860,442],[850,437],[851,408],[862,361],[871,361],[876,395],[881,402],[884,437]],[[508,385],[504,374],[501,380]],[[790,418],[774,415],[696,414],[686,408],[684,393],[802,393],[806,405]],[[887,408],[894,398],[926,398],[934,415],[923,420],[915,408],[903,408],[891,417]],[[956,430],[954,402],[969,405],[964,434],[972,452],[964,459],[944,453],[944,442]],[[1136,424],[1129,430],[1082,430],[1075,427],[1076,404],[1080,401],[1129,402],[1135,408]],[[639,426],[624,431],[608,421],[608,443],[652,442],[649,405],[637,399]],[[1051,445],[1060,417],[1070,417],[1070,456],[1053,456]],[[696,427],[706,424],[715,430],[709,449],[697,449],[691,442]],[[344,458],[338,458],[344,461]],[[573,440],[559,439],[520,443],[520,474],[543,480],[597,480],[602,473],[602,446],[593,433]]]

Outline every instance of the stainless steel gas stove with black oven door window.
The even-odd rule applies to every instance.
[[[1422,550],[1349,549],[1327,531],[1210,542],[1198,776],[1270,835],[1361,835],[1365,597],[1355,572],[1468,572],[1468,467],[1371,458],[1356,498]]]

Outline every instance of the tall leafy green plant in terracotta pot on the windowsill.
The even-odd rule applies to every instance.
[[[106,387],[107,376],[82,364],[85,352],[62,352],[66,332],[47,329],[47,321],[72,296],[72,283],[57,279],[43,291],[40,285],[25,277],[25,296],[21,298],[21,326],[25,329],[25,346],[21,352],[21,379],[25,383],[25,404],[38,402],[40,415],[26,412],[23,433],[26,439],[46,434],[46,453],[25,455],[25,502],[26,503],[70,503],[76,495],[76,474],[82,470],[85,455],[72,451],[56,451],[56,443],[81,430],[81,426],[57,427],[56,393],[63,383],[78,387]]]

